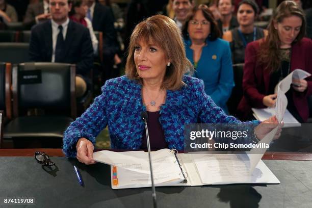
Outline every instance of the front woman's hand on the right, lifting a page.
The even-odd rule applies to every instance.
[[[281,128],[283,127],[284,123],[278,123],[276,116],[272,116],[269,119],[261,122],[255,129],[255,136],[258,140],[262,140],[267,134],[269,134],[276,126],[278,129],[274,135],[273,139],[278,139],[280,137]]]

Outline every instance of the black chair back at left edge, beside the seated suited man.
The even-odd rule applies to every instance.
[[[0,43],[0,62],[19,64],[29,61],[29,43]]]

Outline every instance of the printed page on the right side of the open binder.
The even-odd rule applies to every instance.
[[[250,174],[247,154],[192,154],[192,158],[204,185],[279,184],[279,180],[262,161]]]

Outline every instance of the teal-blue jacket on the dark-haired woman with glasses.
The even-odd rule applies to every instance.
[[[193,76],[204,81],[205,92],[210,95],[217,106],[228,113],[226,101],[234,87],[232,58],[229,43],[217,38],[206,40]],[[191,40],[185,40],[186,56],[194,65]]]

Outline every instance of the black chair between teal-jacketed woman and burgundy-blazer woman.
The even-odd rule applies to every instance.
[[[230,115],[237,116],[237,107],[243,97],[243,69],[243,63],[233,65],[235,87],[233,87],[231,96],[226,103]]]

